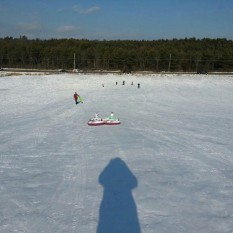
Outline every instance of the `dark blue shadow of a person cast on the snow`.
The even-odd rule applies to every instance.
[[[104,187],[97,233],[140,233],[132,189],[137,179],[120,159],[112,159],[99,176]]]

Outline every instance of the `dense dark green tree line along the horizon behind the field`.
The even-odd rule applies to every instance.
[[[233,41],[208,38],[99,41],[5,37],[0,38],[0,67],[230,72],[233,71]]]

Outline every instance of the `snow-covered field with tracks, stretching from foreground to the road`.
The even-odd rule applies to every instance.
[[[231,233],[232,141],[233,76],[0,77],[0,232]]]

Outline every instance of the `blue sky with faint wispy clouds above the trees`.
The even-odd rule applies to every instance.
[[[233,0],[0,0],[0,37],[233,39]]]

